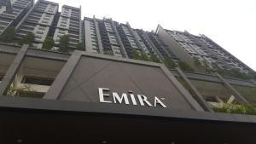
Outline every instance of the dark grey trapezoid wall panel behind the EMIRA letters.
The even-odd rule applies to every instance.
[[[79,60],[59,99],[99,102],[98,88],[108,88],[109,93],[115,91],[119,95],[132,90],[134,94],[147,95],[149,101],[158,96],[165,99],[163,102],[169,108],[192,110],[160,67],[86,56]],[[112,99],[106,98],[107,101]]]

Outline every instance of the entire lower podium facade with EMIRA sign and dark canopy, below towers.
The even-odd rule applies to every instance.
[[[255,116],[209,107],[255,107],[254,81],[28,47],[0,44],[1,143],[254,143]]]

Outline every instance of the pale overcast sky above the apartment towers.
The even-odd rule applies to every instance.
[[[82,15],[129,21],[133,28],[205,34],[256,70],[256,0],[50,0],[82,6]]]

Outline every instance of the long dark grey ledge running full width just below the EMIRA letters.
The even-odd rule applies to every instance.
[[[168,108],[136,107],[83,101],[55,101],[37,98],[0,96],[0,107],[26,110],[46,110],[52,112],[90,112],[149,116],[160,118],[182,118],[195,121],[215,121],[231,123],[256,123],[256,116],[218,112],[182,111]]]

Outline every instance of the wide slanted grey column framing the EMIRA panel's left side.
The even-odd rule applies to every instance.
[[[55,78],[54,83],[51,84],[48,92],[44,95],[44,99],[58,99],[58,96],[61,94],[61,90],[64,88],[65,84],[67,84],[68,78],[71,76],[75,66],[77,66],[81,55],[81,51],[79,50],[75,50],[73,52],[65,66],[61,69],[61,72]]]

